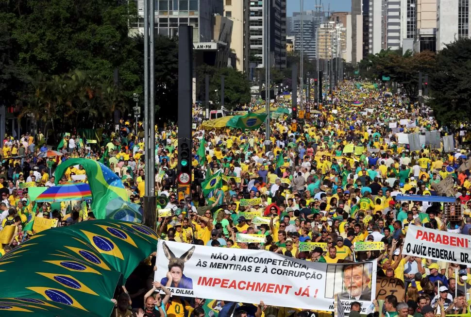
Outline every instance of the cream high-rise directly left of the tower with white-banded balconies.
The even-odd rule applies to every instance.
[[[224,16],[232,21],[231,50],[235,68],[249,72],[249,0],[224,0]]]

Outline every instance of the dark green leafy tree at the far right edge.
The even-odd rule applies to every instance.
[[[468,120],[471,113],[471,40],[459,39],[437,53],[428,73],[431,105],[442,124]]]

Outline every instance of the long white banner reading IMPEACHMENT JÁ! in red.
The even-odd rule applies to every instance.
[[[173,295],[334,310],[334,295],[346,311],[363,313],[376,294],[376,262],[308,262],[266,250],[206,247],[160,240],[154,280]]]

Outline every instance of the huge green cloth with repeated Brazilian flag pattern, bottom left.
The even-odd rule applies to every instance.
[[[0,288],[1,315],[110,316],[115,287],[157,238],[146,226],[105,219],[42,231],[0,258],[0,275],[15,276]]]

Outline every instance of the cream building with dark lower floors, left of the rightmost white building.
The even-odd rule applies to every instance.
[[[437,49],[437,0],[417,0],[414,52]]]

